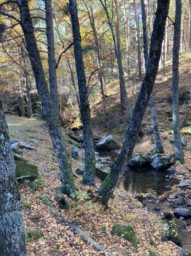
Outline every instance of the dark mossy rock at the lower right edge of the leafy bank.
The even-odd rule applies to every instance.
[[[164,240],[172,241],[178,246],[181,245],[181,238],[179,235],[179,231],[177,229],[177,225],[174,222],[162,220],[160,222],[162,224],[162,237]]]

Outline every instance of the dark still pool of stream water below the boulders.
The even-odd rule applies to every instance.
[[[166,185],[175,185],[179,180],[169,177],[164,171],[151,169],[133,170],[127,169],[119,183],[119,187],[125,188],[127,192],[137,194],[162,194]]]

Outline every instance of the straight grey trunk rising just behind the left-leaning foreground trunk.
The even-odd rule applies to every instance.
[[[49,71],[49,83],[50,83],[50,97],[52,98],[53,105],[61,120],[59,111],[59,99],[58,99],[58,86],[57,86],[57,72],[56,72],[56,60],[55,60],[55,37],[53,30],[53,8],[52,1],[45,0],[46,11],[46,36],[48,43],[48,71]]]

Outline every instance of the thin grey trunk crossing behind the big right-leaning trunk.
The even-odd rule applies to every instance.
[[[143,52],[145,56],[145,71],[147,70],[148,61],[148,37],[147,37],[147,19],[145,13],[145,2],[141,0],[141,11],[142,11],[142,23],[143,23]],[[151,124],[153,129],[153,135],[156,142],[156,153],[164,153],[162,141],[160,138],[160,131],[158,129],[158,122],[156,120],[156,107],[154,104],[153,94],[149,99],[149,105],[151,108]]]

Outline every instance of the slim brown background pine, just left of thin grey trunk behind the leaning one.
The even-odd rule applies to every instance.
[[[140,42],[140,31],[139,25],[137,22],[137,14],[136,14],[136,1],[133,1],[133,9],[134,9],[134,27],[135,27],[135,35],[136,35],[136,47],[137,47],[137,62],[138,62],[138,77],[142,78],[142,64],[141,64],[141,42]]]

